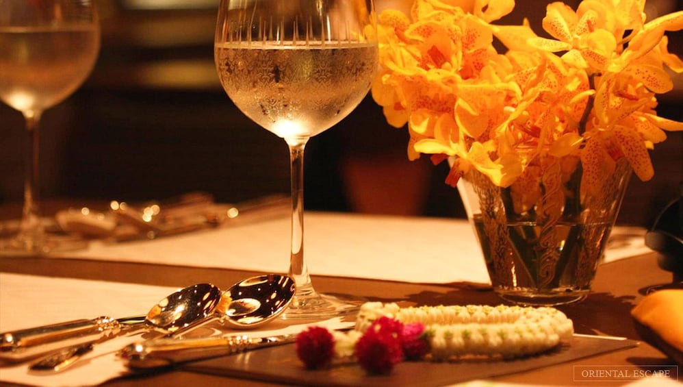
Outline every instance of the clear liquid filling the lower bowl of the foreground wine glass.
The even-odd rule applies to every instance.
[[[306,138],[332,127],[363,100],[375,51],[372,45],[227,44],[216,48],[216,57],[221,83],[237,108],[279,137]],[[333,74],[335,62],[346,64],[344,71]]]

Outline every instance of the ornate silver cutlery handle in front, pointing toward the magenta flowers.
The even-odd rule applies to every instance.
[[[137,342],[121,349],[118,355],[131,369],[153,369],[192,360],[216,358],[251,349],[283,345],[296,340],[296,334],[263,338],[222,336],[208,338],[158,338]]]

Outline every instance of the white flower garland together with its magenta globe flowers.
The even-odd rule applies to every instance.
[[[355,359],[367,373],[386,374],[402,360],[532,355],[572,334],[571,320],[554,308],[400,308],[396,303],[368,302],[361,306],[355,329],[345,333],[309,327],[298,334],[296,353],[307,369]]]

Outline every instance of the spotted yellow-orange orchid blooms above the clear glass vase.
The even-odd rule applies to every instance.
[[[565,175],[580,161],[587,193],[622,159],[650,179],[649,149],[683,130],[655,110],[655,96],[673,88],[665,67],[683,71],[665,35],[681,29],[683,11],[646,21],[645,0],[550,3],[543,29],[552,38],[543,38],[528,21],[493,24],[514,6],[415,0],[410,15],[378,15],[372,96],[389,124],[408,124],[409,158],[450,158],[453,186],[472,169],[496,186],[528,184],[549,158],[562,160]]]

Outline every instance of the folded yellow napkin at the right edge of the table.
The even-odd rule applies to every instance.
[[[631,310],[631,315],[649,328],[678,353],[683,353],[683,289],[658,290],[647,295]]]

